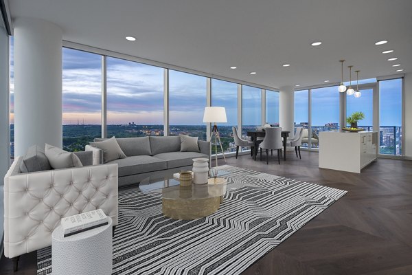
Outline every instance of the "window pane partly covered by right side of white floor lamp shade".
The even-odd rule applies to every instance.
[[[211,106],[225,107],[227,123],[218,124],[224,152],[236,151],[233,126],[238,126],[238,85],[223,80],[211,80]]]

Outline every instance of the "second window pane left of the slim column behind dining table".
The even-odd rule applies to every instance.
[[[242,137],[248,130],[262,125],[262,91],[259,88],[242,85]]]

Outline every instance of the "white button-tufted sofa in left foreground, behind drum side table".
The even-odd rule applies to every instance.
[[[51,245],[62,217],[101,208],[117,225],[117,164],[22,174],[21,161],[4,177],[5,256]]]

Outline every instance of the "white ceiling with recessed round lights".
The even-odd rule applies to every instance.
[[[399,68],[412,72],[411,0],[12,0],[9,5],[12,19],[60,25],[65,41],[269,87],[339,82],[340,59],[360,69],[360,78],[398,74]],[[389,42],[374,45],[384,39]],[[313,47],[314,41],[323,44]],[[399,59],[387,61],[390,57]],[[395,63],[402,66],[391,67]],[[348,80],[347,68],[344,74]]]

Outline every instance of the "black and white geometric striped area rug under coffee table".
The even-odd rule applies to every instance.
[[[203,219],[163,217],[161,199],[119,190],[113,274],[240,274],[345,195],[346,191],[236,168],[220,209]],[[52,273],[51,248],[38,275]]]

